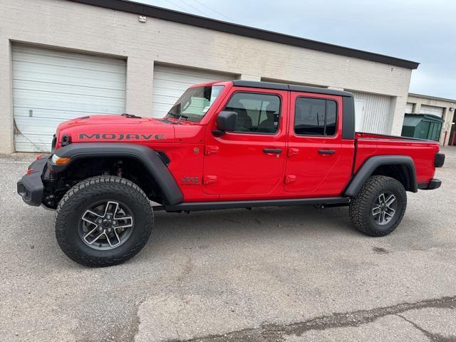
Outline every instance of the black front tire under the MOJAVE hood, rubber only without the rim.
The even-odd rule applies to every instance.
[[[82,213],[97,200],[118,200],[133,212],[133,232],[124,244],[110,250],[88,247],[78,234]],[[147,242],[153,226],[153,209],[145,193],[125,178],[91,177],[73,186],[56,210],[56,238],[62,251],[78,264],[91,267],[121,264],[135,256]]]

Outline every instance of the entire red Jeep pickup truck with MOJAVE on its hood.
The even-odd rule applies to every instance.
[[[154,209],[348,205],[356,229],[383,236],[402,220],[406,191],[440,187],[444,160],[437,142],[356,133],[352,93],[227,81],[192,86],[163,118],[61,123],[51,157],[17,190],[57,209],[68,257],[108,266],[142,249]]]

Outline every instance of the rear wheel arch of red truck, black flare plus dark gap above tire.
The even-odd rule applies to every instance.
[[[377,155],[368,158],[348,183],[344,195],[353,197],[372,175],[395,178],[410,192],[418,192],[415,162],[407,155]]]

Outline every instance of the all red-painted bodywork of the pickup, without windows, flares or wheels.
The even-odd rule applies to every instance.
[[[130,142],[165,152],[171,160],[169,170],[185,202],[337,197],[363,162],[374,155],[410,156],[415,162],[418,182],[429,182],[434,176],[437,142],[367,133],[356,133],[354,140],[342,139],[341,96],[237,88],[232,82],[204,86],[213,84],[223,85],[224,90],[199,123],[90,115],[61,123],[56,132],[56,149],[61,147],[62,136],[68,135],[71,142]],[[278,132],[214,135],[218,113],[236,92],[278,95],[281,99]],[[336,135],[294,133],[294,103],[298,96],[336,101]],[[264,148],[280,149],[281,153],[266,153]],[[319,150],[334,153],[324,155]]]

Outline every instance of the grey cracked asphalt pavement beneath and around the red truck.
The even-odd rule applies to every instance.
[[[347,208],[155,214],[137,257],[88,269],[0,155],[1,341],[456,341],[456,148],[388,237]]]

